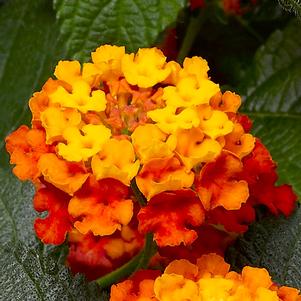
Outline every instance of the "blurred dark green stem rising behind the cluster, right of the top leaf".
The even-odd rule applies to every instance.
[[[205,21],[204,9],[200,9],[200,13],[197,16],[192,16],[190,18],[189,24],[186,29],[185,37],[182,42],[177,61],[182,63],[184,58],[189,54],[191,47],[198,35],[201,25]]]

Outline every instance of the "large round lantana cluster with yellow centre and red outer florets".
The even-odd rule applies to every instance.
[[[160,260],[222,255],[256,206],[293,211],[296,196],[275,185],[276,164],[237,112],[239,95],[222,93],[208,71],[200,57],[181,66],[157,48],[105,45],[90,63],[60,61],[30,99],[31,127],[6,148],[14,174],[35,186],[35,210],[47,212],[37,236],[55,245],[68,237],[74,273],[116,269],[147,233]]]

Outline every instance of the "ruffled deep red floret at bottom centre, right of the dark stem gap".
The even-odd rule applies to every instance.
[[[193,227],[204,221],[204,210],[192,190],[162,192],[138,213],[139,231],[154,232],[158,246],[191,244],[197,233]]]

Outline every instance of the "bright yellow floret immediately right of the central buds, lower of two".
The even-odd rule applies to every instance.
[[[194,108],[186,108],[177,114],[176,108],[165,107],[149,111],[147,116],[166,134],[175,133],[178,129],[197,127],[200,119]]]

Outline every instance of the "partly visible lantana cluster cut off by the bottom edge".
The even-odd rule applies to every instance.
[[[264,268],[230,271],[214,253],[188,260],[174,260],[164,273],[145,270],[111,288],[111,301],[300,301],[297,289],[273,283]]]

